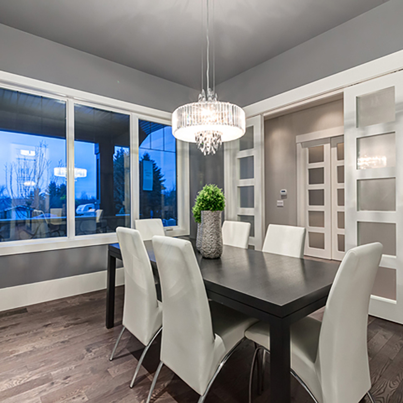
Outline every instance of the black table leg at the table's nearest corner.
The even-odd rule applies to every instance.
[[[291,401],[290,325],[276,319],[270,323],[270,401]]]

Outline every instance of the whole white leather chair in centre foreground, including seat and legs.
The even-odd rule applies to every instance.
[[[199,395],[202,403],[245,330],[257,320],[210,302],[189,241],[153,237],[163,301],[161,362],[150,388],[150,402],[165,364]]]

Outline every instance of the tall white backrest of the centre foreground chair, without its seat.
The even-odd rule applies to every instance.
[[[163,302],[161,361],[199,394],[211,378],[215,337],[200,268],[189,241],[153,237]]]

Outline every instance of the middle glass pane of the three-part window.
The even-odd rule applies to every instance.
[[[130,117],[74,106],[76,235],[130,227]]]

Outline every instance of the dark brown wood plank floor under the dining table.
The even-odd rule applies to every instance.
[[[121,320],[123,289],[117,289]],[[320,317],[321,312],[315,313]],[[147,398],[159,362],[160,340],[150,348],[138,384],[128,384],[143,350],[125,332],[110,362],[121,325],[106,329],[105,291],[0,312],[0,401],[7,403],[140,403]],[[242,344],[217,377],[207,403],[247,402],[253,346]],[[403,401],[403,325],[370,318],[368,325],[372,392],[379,403]],[[270,360],[270,357],[267,358]],[[267,366],[266,366],[267,368]],[[266,375],[266,386],[268,373]],[[198,395],[166,367],[153,401],[197,402]],[[268,389],[256,403],[270,401]],[[311,402],[292,380],[293,403]],[[363,400],[363,402],[367,400]]]

